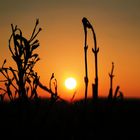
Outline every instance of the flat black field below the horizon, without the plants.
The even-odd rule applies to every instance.
[[[14,139],[140,139],[140,100],[1,103],[0,128]]]

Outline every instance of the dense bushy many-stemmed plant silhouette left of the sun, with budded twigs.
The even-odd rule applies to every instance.
[[[9,39],[9,50],[17,69],[4,67],[6,60],[0,69],[0,72],[5,77],[3,82],[6,87],[6,89],[1,88],[1,90],[8,93],[10,100],[13,100],[11,87],[15,89],[15,95],[18,94],[20,99],[28,99],[29,90],[31,91],[31,97],[37,97],[36,89],[39,77],[33,68],[36,62],[40,60],[38,54],[34,53],[34,50],[39,47],[39,41],[35,39],[41,31],[41,28],[39,28],[36,32],[38,24],[39,20],[37,19],[30,39],[23,37],[22,31],[11,24],[12,34]],[[12,41],[13,45],[11,45]],[[12,78],[10,78],[10,75],[12,75]]]

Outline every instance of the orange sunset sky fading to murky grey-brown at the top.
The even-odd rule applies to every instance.
[[[43,29],[37,49],[41,60],[35,70],[42,83],[48,86],[54,72],[58,93],[70,99],[84,97],[84,30],[82,18],[87,17],[94,27],[99,58],[99,96],[108,96],[112,61],[115,64],[113,89],[120,85],[125,97],[140,97],[140,1],[139,0],[0,0],[0,64],[7,59],[11,23],[30,37],[35,21]],[[88,32],[89,88],[94,83],[93,38]],[[67,77],[77,80],[73,91],[65,88]],[[40,95],[47,93],[40,90]]]

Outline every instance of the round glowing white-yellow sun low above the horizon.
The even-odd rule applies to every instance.
[[[65,80],[65,86],[67,89],[74,89],[76,87],[77,83],[76,83],[76,80],[72,77],[69,77]]]

